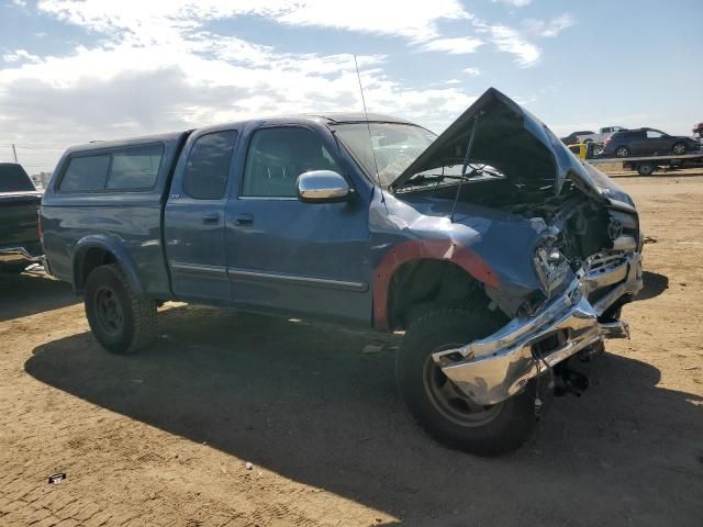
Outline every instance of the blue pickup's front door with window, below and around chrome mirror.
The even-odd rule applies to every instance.
[[[370,322],[368,203],[358,193],[344,203],[297,198],[300,173],[343,173],[331,154],[334,146],[321,132],[300,126],[253,133],[242,182],[226,209],[227,272],[236,304]]]

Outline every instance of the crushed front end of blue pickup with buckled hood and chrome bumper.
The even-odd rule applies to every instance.
[[[457,166],[459,176],[447,176]],[[466,236],[500,278],[484,291],[510,322],[432,355],[478,405],[520,393],[605,338],[629,337],[620,311],[643,287],[634,203],[502,93],[482,96],[390,190],[415,206],[434,202],[435,212],[453,201],[453,236]],[[481,211],[490,222],[476,220]],[[469,238],[468,228],[478,234]]]

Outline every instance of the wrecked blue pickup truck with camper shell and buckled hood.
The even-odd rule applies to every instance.
[[[526,440],[641,288],[632,199],[495,89],[439,136],[317,114],[76,146],[41,223],[105,349],[168,300],[403,330],[411,413],[479,455]]]

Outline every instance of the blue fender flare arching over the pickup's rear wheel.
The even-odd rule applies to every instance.
[[[76,244],[72,260],[72,282],[77,293],[83,292],[90,272],[107,264],[118,264],[122,268],[135,294],[141,295],[144,291],[134,260],[116,239],[100,235],[86,236]]]

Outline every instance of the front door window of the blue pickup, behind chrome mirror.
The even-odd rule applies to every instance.
[[[310,170],[341,171],[314,132],[293,126],[260,128],[249,143],[242,195],[294,198],[298,176]]]

